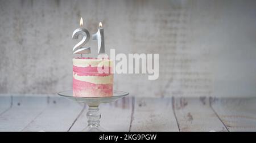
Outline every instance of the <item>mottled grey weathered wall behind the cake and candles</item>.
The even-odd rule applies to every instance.
[[[72,89],[80,17],[107,53],[159,53],[159,79],[115,75],[134,96],[256,96],[255,1],[2,1],[0,93]],[[91,57],[96,55],[96,42]]]

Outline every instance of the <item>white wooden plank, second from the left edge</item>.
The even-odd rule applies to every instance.
[[[47,97],[13,97],[13,106],[0,116],[0,131],[22,131],[47,106]]]

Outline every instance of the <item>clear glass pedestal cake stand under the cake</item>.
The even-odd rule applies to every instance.
[[[105,129],[103,129],[100,126],[100,118],[101,113],[98,109],[98,106],[101,103],[110,103],[114,102],[117,99],[120,99],[122,97],[127,96],[128,92],[122,92],[118,90],[113,91],[113,96],[111,97],[74,97],[73,96],[73,90],[68,90],[64,92],[59,92],[59,96],[66,97],[68,99],[72,99],[77,102],[86,103],[89,106],[89,110],[86,114],[86,117],[88,119],[88,125],[85,129],[82,131],[85,132],[104,132]]]

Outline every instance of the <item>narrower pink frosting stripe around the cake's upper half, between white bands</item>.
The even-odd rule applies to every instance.
[[[102,69],[108,68],[109,73],[98,73],[98,67],[77,67],[73,66],[74,75],[78,76],[109,76],[113,75],[111,73],[112,67],[102,67]]]

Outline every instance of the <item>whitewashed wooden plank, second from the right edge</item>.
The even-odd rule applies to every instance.
[[[209,98],[173,98],[181,132],[228,131],[211,109]]]

